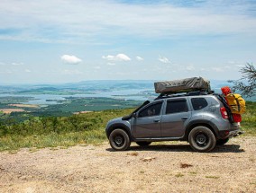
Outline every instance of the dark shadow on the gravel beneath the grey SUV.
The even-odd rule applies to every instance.
[[[112,148],[107,148],[106,151],[115,152]],[[160,152],[195,152],[191,149],[190,145],[148,145],[139,146],[131,145],[127,150],[129,151],[160,151]],[[215,149],[210,153],[242,153],[243,149],[240,145],[216,145]]]

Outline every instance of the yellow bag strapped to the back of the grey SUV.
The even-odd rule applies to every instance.
[[[242,114],[245,112],[245,101],[240,94],[230,93],[226,95],[225,99],[232,113]]]

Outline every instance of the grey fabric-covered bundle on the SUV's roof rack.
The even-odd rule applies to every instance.
[[[154,83],[155,92],[180,93],[180,92],[211,92],[210,82],[202,77],[185,78],[174,81],[164,81]]]

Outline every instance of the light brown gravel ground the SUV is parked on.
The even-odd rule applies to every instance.
[[[184,142],[0,153],[0,192],[256,192],[256,137],[207,154]]]

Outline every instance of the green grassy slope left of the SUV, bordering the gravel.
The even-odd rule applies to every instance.
[[[133,110],[104,110],[64,118],[31,118],[20,124],[0,124],[0,151],[20,148],[102,145],[105,125],[111,118]],[[10,121],[11,122],[11,121]]]

